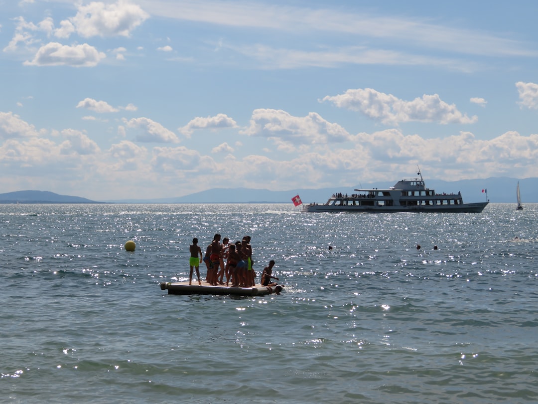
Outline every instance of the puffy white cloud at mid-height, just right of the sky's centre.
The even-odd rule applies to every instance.
[[[241,133],[267,137],[282,146],[288,143],[340,143],[353,138],[339,124],[328,122],[315,112],[307,116],[293,116],[281,109],[255,109],[250,126]]]

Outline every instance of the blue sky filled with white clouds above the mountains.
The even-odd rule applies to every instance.
[[[0,0],[0,193],[538,177],[538,2]]]

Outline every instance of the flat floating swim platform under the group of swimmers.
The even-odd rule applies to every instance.
[[[162,282],[161,290],[168,290],[169,295],[235,295],[235,296],[264,296],[274,292],[275,288],[268,289],[267,287],[257,284],[251,288],[239,288],[226,285],[213,286],[202,281],[201,285],[198,281],[193,280],[193,284],[189,282]]]

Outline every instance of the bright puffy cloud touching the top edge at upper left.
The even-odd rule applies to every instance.
[[[131,31],[142,24],[149,15],[137,4],[118,1],[113,4],[91,2],[80,5],[69,22],[76,32],[84,37],[129,37]]]

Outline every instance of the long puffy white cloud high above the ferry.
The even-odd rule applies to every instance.
[[[477,116],[462,114],[454,104],[441,100],[437,94],[417,97],[413,101],[400,100],[392,94],[372,88],[349,89],[344,94],[325,96],[322,101],[332,102],[339,108],[360,112],[384,124],[402,122],[475,123]]]

